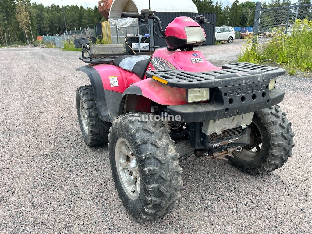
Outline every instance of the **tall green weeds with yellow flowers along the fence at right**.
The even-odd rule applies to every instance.
[[[312,21],[297,20],[291,32],[275,28],[271,40],[259,51],[249,40],[238,56],[240,62],[273,63],[285,67],[289,74],[312,71]]]

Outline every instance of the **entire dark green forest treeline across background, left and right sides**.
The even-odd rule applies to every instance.
[[[223,6],[221,0],[192,0],[198,12],[216,13],[217,26],[232,27],[253,26],[256,3],[235,0],[231,6]],[[294,1],[293,3],[296,3]],[[301,4],[311,0],[301,0]],[[289,0],[269,0],[262,2],[262,8],[293,5]],[[310,12],[310,7],[305,11]],[[302,10],[300,10],[302,11]],[[99,13],[98,6],[78,7],[64,6],[67,30],[70,28],[94,27],[97,22],[105,21]],[[273,14],[273,13],[272,13]],[[275,22],[275,15],[266,17],[266,21]],[[282,19],[281,19],[282,20]],[[30,43],[37,35],[63,34],[65,23],[62,7],[56,4],[43,6],[30,0],[0,0],[0,46]]]

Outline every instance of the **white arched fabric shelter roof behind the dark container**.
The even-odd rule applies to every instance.
[[[110,20],[121,18],[121,12],[141,13],[142,9],[156,12],[193,12],[197,13],[197,7],[192,0],[114,0],[110,7]]]

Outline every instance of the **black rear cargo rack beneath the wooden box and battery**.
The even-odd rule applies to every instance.
[[[82,56],[79,59],[85,63],[89,64],[103,64],[103,63],[112,63],[113,59],[124,56],[124,55],[134,55],[134,53],[122,53],[122,54],[100,54],[100,55],[91,55],[91,52],[86,49],[82,49]],[[85,56],[85,53],[88,53],[88,56]],[[138,55],[152,55],[154,51],[146,51],[141,53],[136,53]]]

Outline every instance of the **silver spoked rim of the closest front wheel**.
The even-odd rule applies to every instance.
[[[129,142],[122,137],[116,142],[115,161],[124,192],[130,199],[137,199],[140,193],[138,163]]]

